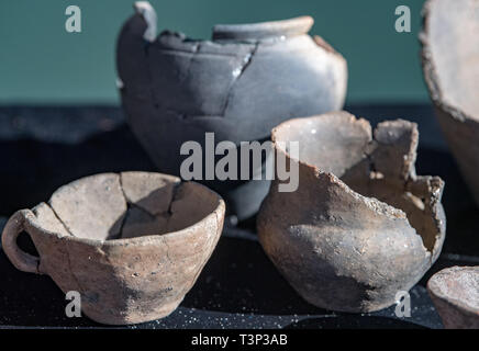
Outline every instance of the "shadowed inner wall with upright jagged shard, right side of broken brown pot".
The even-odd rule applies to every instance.
[[[441,251],[436,248],[439,228],[445,225],[439,205],[444,182],[438,177],[415,173],[417,125],[404,120],[387,121],[378,124],[374,135],[363,162],[352,167],[342,180],[363,195],[401,208],[425,248],[435,252],[434,261]]]

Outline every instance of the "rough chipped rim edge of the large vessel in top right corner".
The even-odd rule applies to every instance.
[[[428,18],[430,13],[432,12],[433,3],[438,0],[427,0],[424,3],[424,7],[422,9],[422,20],[423,25],[422,30],[419,34],[419,41],[421,44],[421,61],[422,61],[422,68],[423,68],[423,76],[424,80],[427,86],[427,90],[430,92],[431,100],[434,102],[434,104],[442,111],[444,111],[448,116],[452,117],[452,120],[460,123],[474,123],[479,124],[478,118],[475,118],[474,116],[469,115],[468,113],[464,112],[459,106],[453,105],[449,103],[446,103],[443,99],[443,91],[441,89],[439,79],[437,75],[437,69],[434,66],[434,59],[431,52],[431,44],[428,39]],[[479,117],[479,116],[478,116]]]

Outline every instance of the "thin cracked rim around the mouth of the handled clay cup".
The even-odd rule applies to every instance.
[[[81,181],[81,180],[85,181],[85,180],[88,180],[90,178],[101,177],[104,174],[120,174],[120,173],[112,173],[112,172],[97,173],[97,174],[92,174],[92,176],[77,179],[77,180],[75,180],[70,183],[67,183],[65,185],[62,185],[62,186],[67,186],[67,185],[70,185],[70,184],[76,183],[76,182]],[[141,173],[164,174],[164,173],[158,173],[158,172],[141,172]],[[169,174],[164,174],[164,176],[169,176]],[[171,176],[169,176],[169,177],[171,177]],[[122,247],[122,246],[130,246],[130,245],[145,245],[145,244],[152,244],[152,242],[156,242],[156,241],[163,241],[166,238],[177,238],[177,237],[182,237],[182,236],[187,237],[188,235],[192,235],[192,234],[196,234],[198,231],[201,231],[201,230],[197,230],[197,229],[203,228],[204,224],[211,219],[214,219],[216,223],[220,223],[224,219],[226,206],[225,206],[224,200],[216,192],[212,191],[208,186],[204,186],[204,185],[197,183],[197,182],[193,182],[193,181],[181,181],[180,182],[180,184],[183,184],[183,183],[191,183],[196,188],[202,188],[205,191],[210,192],[211,194],[213,194],[215,196],[218,204],[211,213],[209,213],[207,216],[204,216],[200,220],[196,222],[194,224],[192,224],[188,227],[185,227],[182,229],[175,230],[175,231],[168,231],[168,233],[165,233],[161,235],[153,234],[153,235],[134,237],[134,238],[118,238],[118,239],[107,239],[107,240],[89,239],[89,238],[76,237],[73,235],[60,235],[59,233],[45,229],[42,226],[42,224],[38,222],[38,218],[35,216],[35,214],[33,213],[32,210],[29,208],[29,210],[23,210],[23,211],[24,211],[26,224],[32,226],[33,228],[35,228],[40,233],[54,236],[58,239],[81,242],[81,244],[86,244],[86,245],[93,246],[93,247],[105,247],[105,246],[107,247]],[[59,186],[58,189],[60,189],[62,186]],[[47,206],[49,206],[45,202],[41,202],[40,204],[46,204]],[[36,205],[36,206],[38,206],[38,205]],[[33,207],[33,208],[35,208],[35,207]]]

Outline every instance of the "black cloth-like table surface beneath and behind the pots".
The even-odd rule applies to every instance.
[[[160,320],[127,328],[442,328],[425,290],[450,265],[479,264],[479,210],[445,145],[430,105],[350,105],[376,125],[404,118],[419,124],[419,174],[446,182],[447,237],[434,267],[411,291],[411,317],[394,306],[374,314],[341,314],[302,301],[264,254],[254,218],[226,228],[212,258],[180,307]],[[16,210],[49,199],[58,186],[107,171],[155,168],[115,106],[0,107],[0,226]],[[26,236],[19,244],[34,252]],[[67,318],[65,295],[44,275],[23,273],[0,252],[0,328],[104,328]]]

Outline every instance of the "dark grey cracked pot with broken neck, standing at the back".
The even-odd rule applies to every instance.
[[[310,16],[216,25],[212,41],[197,41],[168,31],[156,37],[154,9],[142,1],[135,10],[118,41],[120,92],[134,134],[161,172],[179,176],[188,157],[180,155],[181,145],[196,140],[204,150],[207,132],[214,133],[215,145],[230,140],[238,147],[268,139],[291,116],[343,106],[346,61],[307,34]],[[239,219],[257,212],[269,186],[258,180],[208,181],[204,167],[202,183]]]

